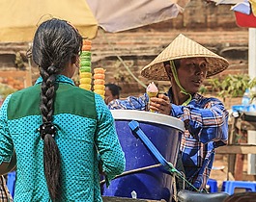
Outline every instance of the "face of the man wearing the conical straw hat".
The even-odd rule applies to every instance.
[[[177,74],[181,86],[190,94],[198,92],[207,75],[205,58],[181,59],[180,64]]]

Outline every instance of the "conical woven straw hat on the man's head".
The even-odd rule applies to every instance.
[[[225,70],[229,63],[199,43],[180,34],[157,57],[141,70],[141,75],[151,80],[169,81],[163,62],[175,59],[205,57],[209,70],[207,77]]]

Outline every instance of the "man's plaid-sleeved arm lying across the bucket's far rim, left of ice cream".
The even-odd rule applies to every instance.
[[[147,93],[140,97],[128,96],[126,99],[116,99],[108,104],[109,110],[139,110],[145,111],[149,97]]]

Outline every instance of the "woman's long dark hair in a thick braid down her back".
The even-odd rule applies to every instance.
[[[67,63],[77,56],[82,47],[82,37],[67,21],[50,19],[43,22],[33,41],[32,57],[40,67],[43,78],[41,105],[43,124],[43,167],[49,195],[53,201],[61,196],[61,159],[52,123],[55,97],[55,81]]]

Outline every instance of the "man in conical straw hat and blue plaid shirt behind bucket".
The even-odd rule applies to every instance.
[[[172,115],[185,122],[185,133],[177,166],[196,189],[205,189],[213,166],[214,148],[228,139],[228,112],[223,103],[199,94],[207,77],[228,67],[222,57],[199,43],[179,35],[156,59],[145,66],[141,75],[149,80],[170,81],[164,94],[149,98],[129,96],[115,100],[109,109],[147,110]],[[192,186],[185,189],[192,189]]]

